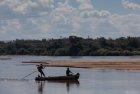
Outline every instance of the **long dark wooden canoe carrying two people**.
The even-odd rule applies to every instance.
[[[68,80],[78,80],[79,77],[80,74],[77,73],[71,76],[36,77],[35,80],[36,81],[58,81],[58,80],[68,81]]]

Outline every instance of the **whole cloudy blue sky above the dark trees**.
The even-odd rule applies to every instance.
[[[0,0],[0,40],[139,37],[140,0]]]

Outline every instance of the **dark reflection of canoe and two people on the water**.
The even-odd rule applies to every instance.
[[[38,84],[38,94],[43,94],[43,89],[44,89],[44,86],[46,84],[46,81],[36,81],[36,83]],[[66,84],[66,89],[67,89],[67,92],[70,91],[70,88],[73,84],[77,85],[77,87],[79,87],[80,85],[80,82],[78,80],[74,80],[74,81],[47,81],[47,83],[63,83],[63,84]]]

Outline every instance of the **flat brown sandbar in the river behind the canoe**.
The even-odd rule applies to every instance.
[[[50,67],[77,67],[118,70],[140,70],[140,59],[126,60],[40,60],[23,63],[43,63]]]

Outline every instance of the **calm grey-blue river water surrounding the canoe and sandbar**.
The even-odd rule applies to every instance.
[[[37,72],[35,65],[22,64],[29,60],[108,60],[139,59],[140,56],[129,57],[46,57],[46,56],[0,56],[11,58],[0,60],[0,94],[140,94],[140,71],[97,70],[71,68],[79,72],[79,83],[35,82]],[[65,67],[48,67],[44,69],[47,76],[65,75]]]

